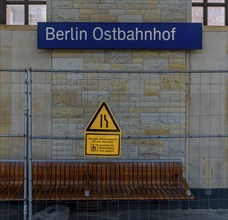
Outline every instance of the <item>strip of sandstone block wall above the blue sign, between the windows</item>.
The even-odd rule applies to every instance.
[[[48,0],[49,21],[186,22],[187,0]]]

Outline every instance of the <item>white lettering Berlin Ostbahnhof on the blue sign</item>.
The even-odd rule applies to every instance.
[[[136,27],[133,30],[123,30],[120,27],[104,30],[101,27],[95,27],[91,33],[91,37],[96,41],[174,41],[176,27],[170,30],[158,30],[154,27],[151,30],[140,30]],[[53,27],[46,27],[46,40],[71,40],[71,41],[85,41],[88,40],[88,32],[86,30],[79,30],[78,27],[71,27],[67,30],[55,30]]]

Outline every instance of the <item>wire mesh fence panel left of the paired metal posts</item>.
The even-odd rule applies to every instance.
[[[11,213],[17,213],[23,219],[23,202],[14,197],[13,204],[5,199],[12,190],[13,182],[23,182],[19,175],[15,180],[9,178],[4,172],[3,163],[8,160],[24,160],[25,147],[25,71],[0,71],[0,219],[10,219]],[[19,170],[16,170],[19,172]],[[6,184],[4,184],[4,181]],[[22,194],[24,189],[15,189]],[[19,196],[19,195],[18,195]],[[23,200],[22,200],[23,201]]]

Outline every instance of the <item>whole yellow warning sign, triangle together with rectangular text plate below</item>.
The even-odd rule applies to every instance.
[[[121,130],[107,103],[103,101],[85,129],[86,156],[119,156]]]

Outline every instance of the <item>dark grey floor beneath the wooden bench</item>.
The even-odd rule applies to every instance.
[[[75,206],[54,205],[58,212],[36,220],[228,220],[228,209],[147,209],[105,207],[87,211]],[[46,204],[46,208],[50,205]],[[64,209],[65,207],[65,209]],[[66,209],[67,207],[67,209]],[[48,210],[47,208],[47,210]],[[66,211],[66,210],[69,210]],[[33,214],[43,211],[43,207],[34,210]],[[61,217],[60,217],[61,216]],[[0,206],[0,220],[23,220],[23,208],[18,204]]]

